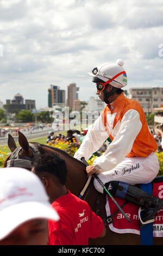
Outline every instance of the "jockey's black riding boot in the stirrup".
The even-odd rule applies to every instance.
[[[163,207],[163,200],[154,197],[141,188],[133,185],[126,184],[124,182],[111,181],[105,184],[109,192],[130,203],[139,205],[139,217],[142,224],[147,224],[154,221],[154,216]],[[143,209],[143,217],[140,216],[140,212]]]

